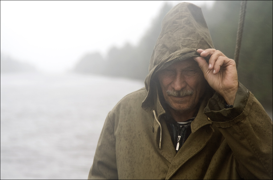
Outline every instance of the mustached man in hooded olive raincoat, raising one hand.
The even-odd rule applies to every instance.
[[[145,87],[102,129],[90,179],[272,179],[272,122],[199,7],[164,17]]]

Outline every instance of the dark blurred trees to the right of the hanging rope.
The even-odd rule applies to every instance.
[[[272,109],[273,1],[248,1],[239,59],[239,80]]]

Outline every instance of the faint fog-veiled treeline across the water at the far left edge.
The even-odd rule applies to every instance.
[[[28,63],[19,62],[9,56],[0,54],[0,73],[35,72],[36,68]]]

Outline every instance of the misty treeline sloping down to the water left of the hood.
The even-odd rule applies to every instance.
[[[77,63],[74,71],[144,80],[162,19],[171,8],[167,3],[163,6],[137,46],[127,43],[122,48],[112,47],[105,58],[99,52],[87,54]]]

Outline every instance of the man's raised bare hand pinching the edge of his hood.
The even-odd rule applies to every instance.
[[[228,105],[233,105],[238,90],[235,61],[216,49],[198,49],[197,52],[201,57],[196,57],[194,60],[209,85],[225,99]],[[209,64],[205,58],[209,59]]]

